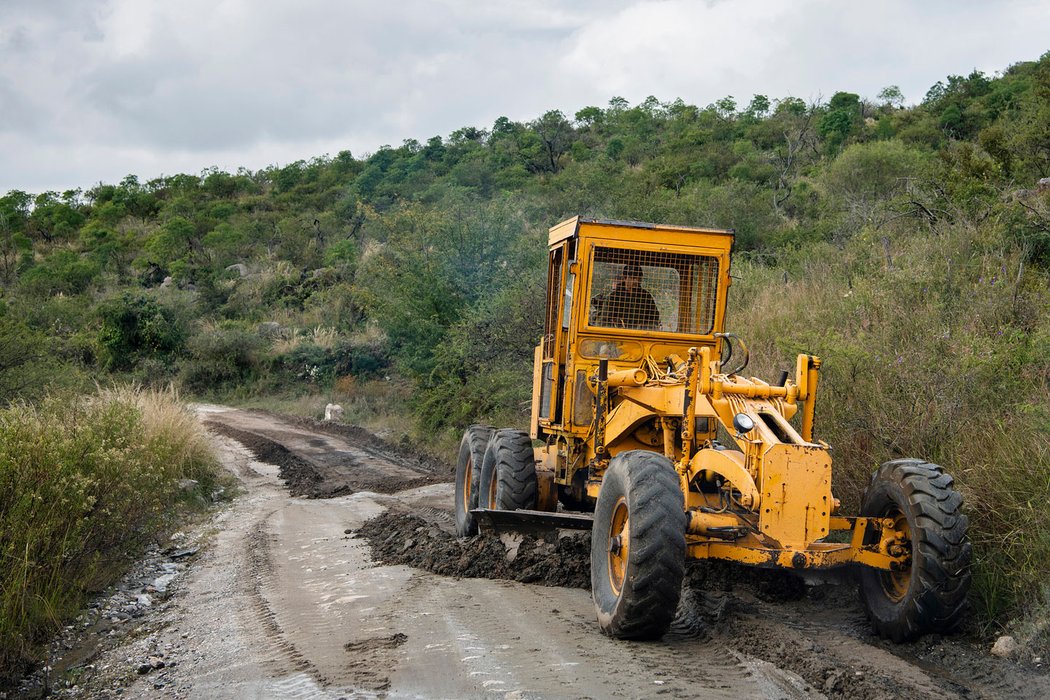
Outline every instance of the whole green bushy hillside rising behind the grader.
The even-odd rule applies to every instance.
[[[343,151],[0,197],[0,401],[132,379],[333,398],[418,441],[525,421],[546,229],[733,228],[755,373],[826,359],[817,430],[856,505],[875,465],[957,475],[981,620],[1045,601],[1050,54],[904,108],[614,98]],[[754,365],[753,365],[754,366]]]

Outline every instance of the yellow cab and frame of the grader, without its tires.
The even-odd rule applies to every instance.
[[[548,242],[540,509],[586,506],[610,459],[652,450],[679,474],[693,558],[907,565],[891,519],[836,514],[830,447],[813,438],[819,358],[800,355],[782,385],[723,368],[732,231],[573,217]]]

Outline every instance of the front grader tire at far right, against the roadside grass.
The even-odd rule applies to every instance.
[[[901,642],[954,631],[970,587],[969,521],[952,479],[922,460],[886,462],[872,476],[861,515],[889,517],[906,533],[911,563],[904,571],[860,571],[860,594],[872,629]]]

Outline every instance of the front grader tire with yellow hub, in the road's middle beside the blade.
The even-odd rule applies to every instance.
[[[685,499],[674,466],[656,452],[617,454],[602,479],[591,530],[591,596],[602,632],[664,636],[685,573]]]

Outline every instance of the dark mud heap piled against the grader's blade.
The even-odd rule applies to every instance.
[[[372,558],[445,576],[503,578],[523,584],[590,588],[590,538],[478,535],[457,538],[410,513],[386,511],[366,522],[357,536]]]

